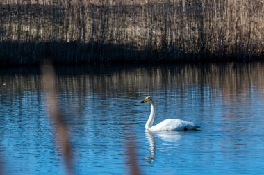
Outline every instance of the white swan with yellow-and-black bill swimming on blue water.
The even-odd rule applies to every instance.
[[[150,131],[188,131],[188,130],[196,130],[200,126],[195,126],[194,123],[183,121],[181,119],[165,119],[163,122],[159,124],[153,125],[154,117],[155,117],[155,107],[154,101],[151,96],[146,97],[141,103],[149,102],[151,104],[151,111],[149,115],[149,119],[145,125],[146,130]]]

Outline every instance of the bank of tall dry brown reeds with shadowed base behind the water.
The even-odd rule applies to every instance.
[[[261,0],[6,0],[0,63],[254,60],[263,14]]]

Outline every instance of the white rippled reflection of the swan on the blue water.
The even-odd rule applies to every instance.
[[[155,139],[161,140],[163,142],[172,142],[174,146],[179,144],[181,140],[181,131],[160,131],[152,132],[149,130],[145,131],[147,140],[149,141],[149,153],[150,155],[145,156],[145,162],[154,163],[155,160],[155,151],[156,151],[156,142]],[[155,138],[154,138],[155,137]]]

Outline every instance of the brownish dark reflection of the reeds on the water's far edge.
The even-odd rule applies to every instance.
[[[2,94],[24,91],[40,92],[41,79],[38,71],[19,72],[0,70]],[[88,94],[88,91],[99,96],[111,97],[126,92],[129,97],[135,97],[134,90],[141,92],[156,92],[164,90],[179,90],[186,95],[190,88],[211,90],[211,98],[215,98],[213,90],[220,90],[222,97],[229,99],[229,94],[243,92],[249,94],[251,86],[264,87],[264,63],[230,63],[206,65],[172,65],[154,67],[77,67],[76,69],[56,69],[58,74],[57,88],[59,93],[78,92]],[[67,87],[67,88],[65,88]],[[263,91],[263,88],[259,88]],[[263,93],[262,93],[263,94]]]

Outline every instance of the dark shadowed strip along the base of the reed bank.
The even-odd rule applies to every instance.
[[[0,42],[0,67],[40,65],[51,60],[54,65],[111,64],[170,64],[250,62],[264,56],[248,53],[219,55],[212,53],[175,53],[170,51],[138,50],[115,44],[81,44],[79,42]],[[8,54],[6,54],[8,53]]]

